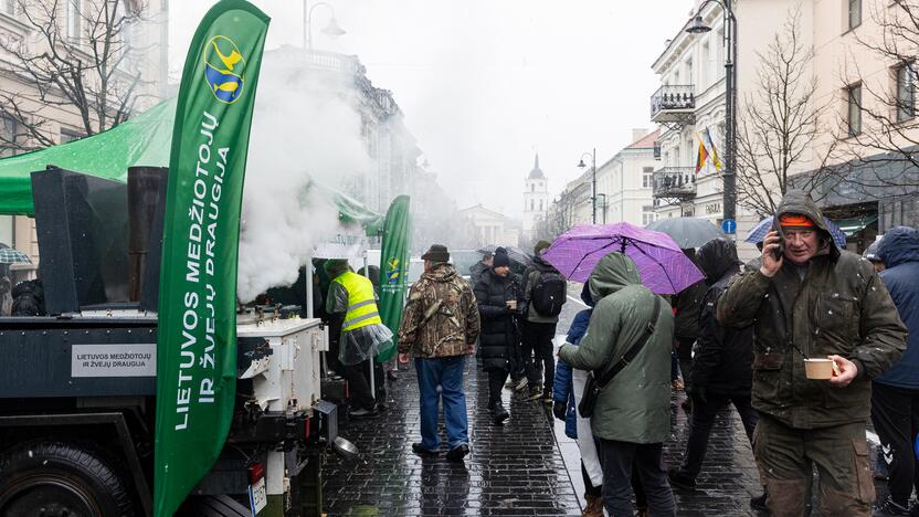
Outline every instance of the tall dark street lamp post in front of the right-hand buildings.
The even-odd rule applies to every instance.
[[[690,34],[705,34],[711,28],[703,20],[701,12],[709,3],[721,6],[725,14],[725,38],[727,56],[725,59],[725,123],[727,133],[727,145],[725,152],[725,171],[721,178],[725,181],[722,192],[723,219],[737,218],[737,170],[735,168],[737,152],[737,18],[731,10],[732,0],[707,0],[699,7],[699,14],[693,20],[693,24],[686,28]]]

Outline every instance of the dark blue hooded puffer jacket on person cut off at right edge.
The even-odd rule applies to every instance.
[[[878,244],[885,271],[880,278],[907,327],[907,348],[899,361],[875,379],[888,386],[919,389],[919,231],[896,226]]]

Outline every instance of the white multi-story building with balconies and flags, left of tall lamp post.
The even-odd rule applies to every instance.
[[[696,173],[696,161],[703,131],[711,135],[716,149],[723,148],[725,27],[717,2],[709,2],[699,15],[712,30],[689,34],[685,29],[690,19],[652,65],[661,76],[661,87],[651,96],[651,119],[661,126],[653,204],[657,218],[698,217],[720,223],[721,178],[710,165]]]

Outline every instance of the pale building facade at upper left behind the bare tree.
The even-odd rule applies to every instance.
[[[62,91],[46,89],[49,102],[39,101],[40,88],[46,88],[47,85],[36,84],[34,77],[22,73],[22,60],[12,52],[14,50],[21,55],[34,56],[51,50],[49,39],[42,36],[41,31],[47,31],[53,36],[59,54],[70,55],[72,50],[74,55],[82,55],[84,70],[92,70],[97,62],[105,61],[109,67],[117,62],[115,72],[108,77],[108,92],[113,95],[109,102],[113,105],[118,104],[113,99],[129,98],[133,99],[130,105],[134,110],[142,110],[162,98],[168,68],[168,0],[118,2],[123,3],[117,11],[120,14],[114,15],[110,25],[118,27],[120,32],[103,36],[118,52],[118,55],[108,60],[89,51],[91,32],[95,34],[96,41],[98,34],[106,34],[95,25],[104,23],[101,20],[105,20],[105,17],[98,18],[96,14],[105,2],[112,3],[113,0],[38,0],[24,3],[27,9],[34,10],[27,13],[18,1],[0,1],[0,92],[13,95],[21,108],[19,115],[13,115],[12,112],[0,113],[2,140],[17,144],[3,146],[0,156],[15,154],[18,150],[14,147],[43,145],[29,135],[25,124],[41,124],[43,137],[54,143],[70,141],[86,134],[82,114],[66,101]],[[136,10],[139,10],[138,17],[127,13]],[[123,60],[119,59],[122,54]],[[81,80],[86,84],[86,92],[98,91],[97,74],[87,71]],[[129,87],[134,89],[126,94]],[[88,117],[93,130],[98,130],[98,117],[92,110]],[[28,253],[33,261],[39,258],[35,225],[30,218],[0,215],[0,242]]]

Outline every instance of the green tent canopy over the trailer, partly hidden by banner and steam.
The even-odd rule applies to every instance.
[[[107,131],[46,149],[0,159],[0,214],[34,215],[31,173],[47,166],[126,182],[128,167],[168,167],[176,98]],[[342,223],[360,224],[367,235],[379,235],[383,214],[342,192],[321,187],[338,208]]]

